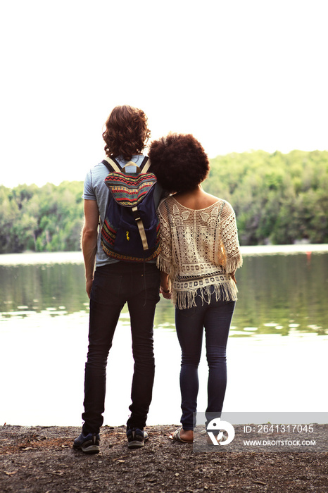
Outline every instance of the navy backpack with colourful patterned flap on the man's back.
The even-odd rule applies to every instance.
[[[153,201],[156,176],[147,173],[150,159],[145,157],[140,167],[129,161],[120,168],[113,158],[102,163],[110,172],[104,180],[110,193],[101,227],[103,251],[126,262],[156,258],[160,252],[160,225]],[[128,166],[136,167],[137,173],[125,173]]]

